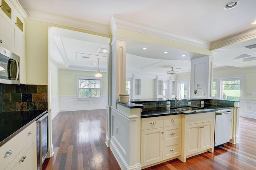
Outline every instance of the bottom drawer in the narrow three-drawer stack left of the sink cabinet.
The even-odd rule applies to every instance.
[[[164,144],[164,151],[163,151],[163,160],[173,158],[175,156],[180,156],[181,150],[181,142],[176,141],[173,143]]]

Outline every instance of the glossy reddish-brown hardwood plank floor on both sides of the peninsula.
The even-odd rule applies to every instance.
[[[256,119],[240,117],[240,143],[226,143],[214,153],[193,156],[186,163],[170,160],[144,170],[255,170]],[[54,156],[43,170],[120,170],[106,147],[106,109],[60,112],[52,120]]]

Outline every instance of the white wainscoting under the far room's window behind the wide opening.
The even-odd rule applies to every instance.
[[[77,96],[59,96],[60,111],[106,109],[106,98],[77,98]]]

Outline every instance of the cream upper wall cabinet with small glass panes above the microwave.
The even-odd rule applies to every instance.
[[[20,56],[20,83],[25,84],[25,20],[27,15],[16,0],[0,0],[0,2],[0,45]]]

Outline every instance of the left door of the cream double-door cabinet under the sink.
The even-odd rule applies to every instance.
[[[200,139],[201,139],[201,123],[191,124],[187,126],[187,145],[186,155],[200,152]]]

